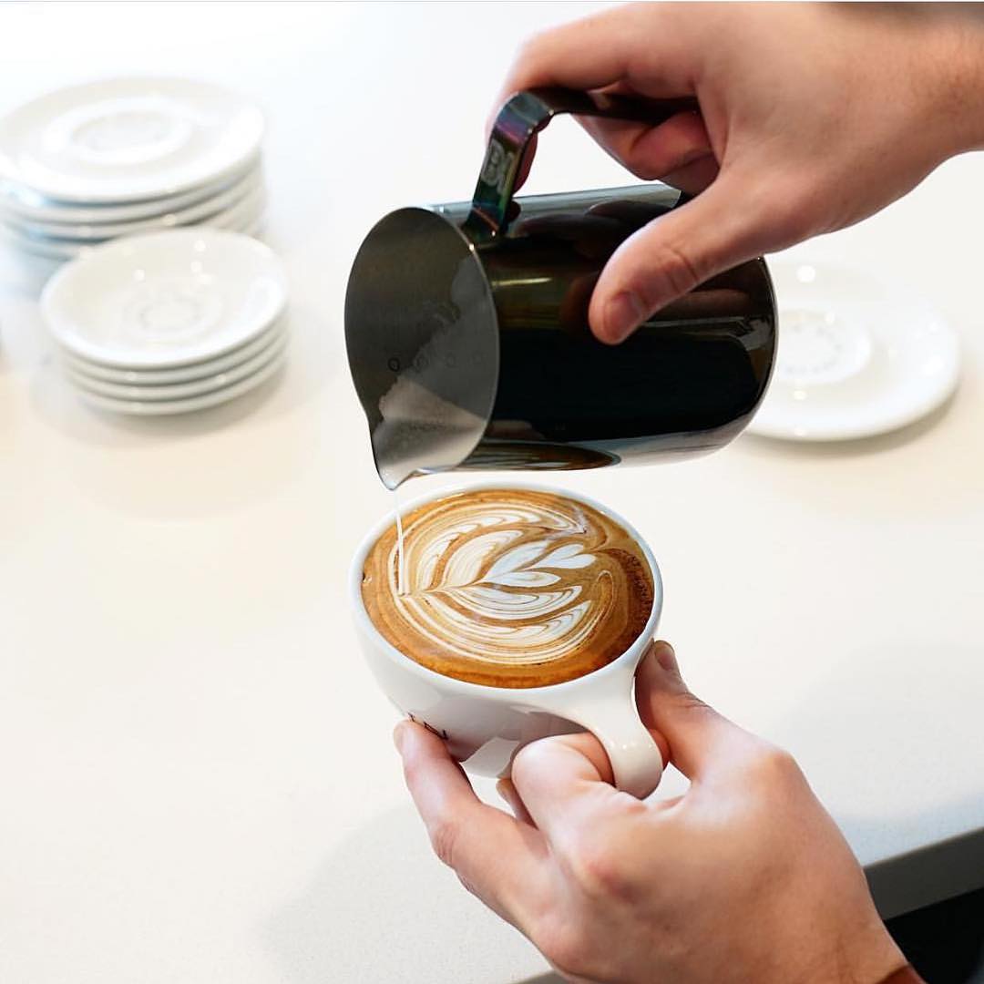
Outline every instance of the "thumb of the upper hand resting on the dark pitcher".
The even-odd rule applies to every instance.
[[[629,236],[598,277],[587,317],[595,336],[616,343],[650,315],[710,277],[774,248],[754,186],[722,171],[705,191]]]

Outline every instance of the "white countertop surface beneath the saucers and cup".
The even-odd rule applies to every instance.
[[[341,312],[376,218],[470,193],[515,42],[587,9],[0,10],[4,106],[129,72],[262,102],[293,330],[286,373],[234,405],[103,416],[52,364],[52,268],[0,257],[0,980],[544,970],[429,856],[353,648],[345,567],[391,504]],[[624,181],[569,123],[540,146],[531,191]],[[856,446],[743,438],[561,479],[646,535],[695,691],[795,752],[866,863],[984,828],[982,168],[953,161],[810,247],[952,319],[965,372],[943,412]]]

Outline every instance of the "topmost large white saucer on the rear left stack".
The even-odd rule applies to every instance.
[[[62,202],[119,204],[216,181],[257,154],[251,101],[186,79],[108,79],[0,118],[0,178]]]

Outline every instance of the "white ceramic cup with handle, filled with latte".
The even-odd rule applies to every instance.
[[[489,481],[441,489],[408,503],[417,506],[459,492],[483,488],[552,492],[583,502],[619,523],[639,544],[652,572],[652,611],[632,646],[600,669],[547,687],[486,687],[443,676],[404,656],[376,629],[362,603],[362,570],[372,545],[395,517],[376,523],[355,551],[349,593],[359,642],[384,693],[406,716],[440,735],[451,754],[477,775],[508,775],[523,745],[548,735],[590,731],[604,746],[619,789],[643,797],[659,782],[663,761],[636,707],[635,677],[651,643],[662,607],[663,590],[652,551],[630,523],[606,506],[566,489],[522,482]]]

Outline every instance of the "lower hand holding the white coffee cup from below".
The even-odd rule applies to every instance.
[[[601,746],[573,735],[517,756],[500,787],[514,819],[476,798],[439,738],[400,724],[407,785],[465,888],[569,980],[875,984],[903,966],[792,759],[694,697],[665,643],[637,697],[691,779],[676,800],[616,791]]]

